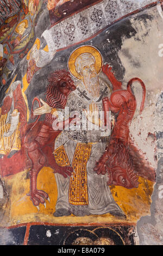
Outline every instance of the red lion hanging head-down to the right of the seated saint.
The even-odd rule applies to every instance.
[[[109,145],[96,163],[94,170],[97,174],[103,175],[108,172],[108,185],[134,188],[139,186],[139,175],[145,179],[155,180],[154,169],[149,166],[149,163],[145,163],[129,137],[129,125],[136,111],[136,99],[131,91],[131,85],[136,81],[141,84],[143,89],[140,113],[143,111],[145,103],[146,87],[139,78],[133,78],[128,82],[127,89],[123,90],[122,83],[116,80],[111,69],[108,64],[104,65],[102,69],[113,85],[110,99],[108,97],[103,99],[103,107],[105,113],[110,109],[118,115]]]

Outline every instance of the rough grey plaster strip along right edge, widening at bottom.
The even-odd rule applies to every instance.
[[[161,5],[157,6],[158,13],[162,19]],[[159,19],[159,17],[158,17]],[[158,34],[157,37],[160,38],[158,48],[162,45],[162,22],[163,19],[158,22]],[[160,26],[159,26],[160,25]],[[155,45],[156,49],[157,45]],[[156,52],[156,51],[155,51]],[[160,80],[156,79],[156,88],[159,89],[159,84],[162,81],[162,72],[159,67],[162,66],[162,54],[155,54],[156,63],[158,63],[155,69],[155,75]],[[155,59],[154,58],[154,59]],[[155,76],[153,76],[154,78]],[[162,88],[162,84],[160,86]],[[155,132],[156,149],[155,149],[155,159],[157,159],[157,169],[156,169],[156,185],[154,186],[154,192],[152,195],[152,205],[151,205],[151,216],[142,217],[139,222],[137,222],[137,232],[139,235],[140,245],[162,245],[162,90],[153,95],[154,108],[152,109],[154,113],[154,119],[150,124],[153,124],[153,129]],[[154,98],[152,97],[152,98]],[[151,99],[152,102],[152,99]],[[150,235],[149,235],[150,234]]]

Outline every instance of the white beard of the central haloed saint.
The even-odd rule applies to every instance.
[[[84,85],[87,89],[87,91],[93,96],[93,97],[98,97],[99,96],[99,80],[98,80],[98,75],[96,77],[90,77],[84,76],[83,81]]]

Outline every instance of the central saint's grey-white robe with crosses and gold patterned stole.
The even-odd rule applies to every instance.
[[[68,97],[66,107],[69,107],[70,113],[77,111],[82,115],[83,109],[88,109],[92,102],[95,102],[98,110],[102,111],[102,99],[109,96],[111,90],[100,78],[99,86],[99,96],[93,99],[80,81],[77,89]],[[68,109],[65,109],[66,111]],[[62,114],[67,119],[68,113],[65,112]],[[86,117],[82,118],[84,123]],[[71,164],[74,169],[72,176],[66,179],[60,174],[55,174],[58,186],[56,210],[65,208],[77,216],[106,214],[112,211],[122,213],[106,184],[106,175],[97,175],[93,170],[96,161],[105,150],[110,131],[97,130],[95,125],[95,130],[91,130],[89,125],[91,124],[87,124],[86,129],[80,125],[79,129],[76,127],[76,130],[70,128],[62,131],[55,140],[54,155],[58,164],[61,166]]]

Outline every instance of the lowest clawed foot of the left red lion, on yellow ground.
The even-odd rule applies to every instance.
[[[30,200],[32,200],[32,203],[38,210],[40,210],[39,205],[43,204],[46,208],[46,200],[50,202],[49,196],[46,192],[42,190],[36,190],[34,192],[30,192],[27,194],[27,196],[30,197]]]

